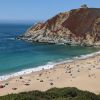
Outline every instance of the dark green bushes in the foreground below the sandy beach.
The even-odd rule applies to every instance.
[[[100,100],[100,96],[76,88],[53,88],[46,92],[32,91],[10,94],[0,97],[0,100]]]

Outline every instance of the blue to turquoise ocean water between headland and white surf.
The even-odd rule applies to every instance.
[[[15,37],[31,25],[0,24],[0,76],[90,54],[99,48],[27,43]]]

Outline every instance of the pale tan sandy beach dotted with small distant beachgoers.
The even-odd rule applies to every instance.
[[[100,93],[100,55],[1,81],[0,96],[32,90],[45,91],[53,87],[77,87]]]

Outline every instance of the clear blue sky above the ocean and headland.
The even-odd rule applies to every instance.
[[[0,0],[0,21],[46,20],[82,4],[100,8],[100,0]]]

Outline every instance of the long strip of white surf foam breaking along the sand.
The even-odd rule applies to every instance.
[[[99,54],[100,54],[100,51],[94,52],[94,53],[91,53],[91,54],[76,56],[76,57],[73,57],[71,59],[68,59],[68,58],[66,60],[62,59],[59,62],[48,62],[48,64],[43,65],[43,66],[38,66],[36,68],[30,68],[30,69],[24,69],[24,70],[16,72],[16,73],[0,76],[0,81],[7,80],[9,78],[13,78],[13,77],[20,76],[20,75],[26,75],[26,74],[29,74],[29,73],[32,73],[32,72],[35,72],[35,71],[40,71],[42,69],[50,69],[50,68],[53,68],[55,65],[58,65],[58,64],[69,63],[69,62],[73,62],[74,60],[78,60],[78,59],[86,59],[86,58],[90,58],[90,57],[93,57],[93,56],[96,56],[96,55],[99,55]]]

